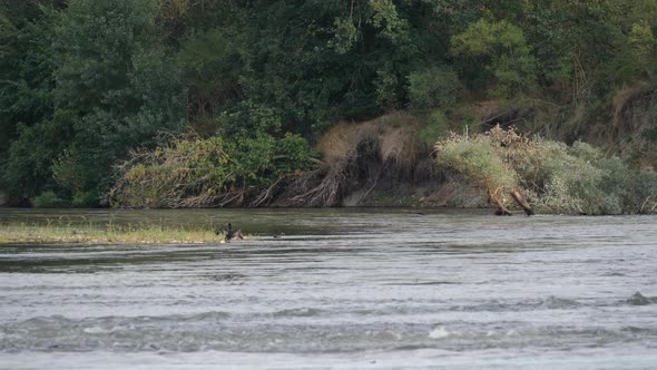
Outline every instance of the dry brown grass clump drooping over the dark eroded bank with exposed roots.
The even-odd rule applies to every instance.
[[[383,176],[411,173],[420,155],[418,127],[404,113],[332,127],[316,146],[322,167],[292,184],[296,195],[285,205],[334,206],[355,188],[367,187],[366,195]]]

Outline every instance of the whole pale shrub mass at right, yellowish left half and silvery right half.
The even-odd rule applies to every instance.
[[[521,189],[540,213],[646,214],[657,211],[657,173],[633,168],[589,144],[571,146],[499,126],[451,135],[437,144],[437,163],[474,179],[491,203],[510,205]]]

